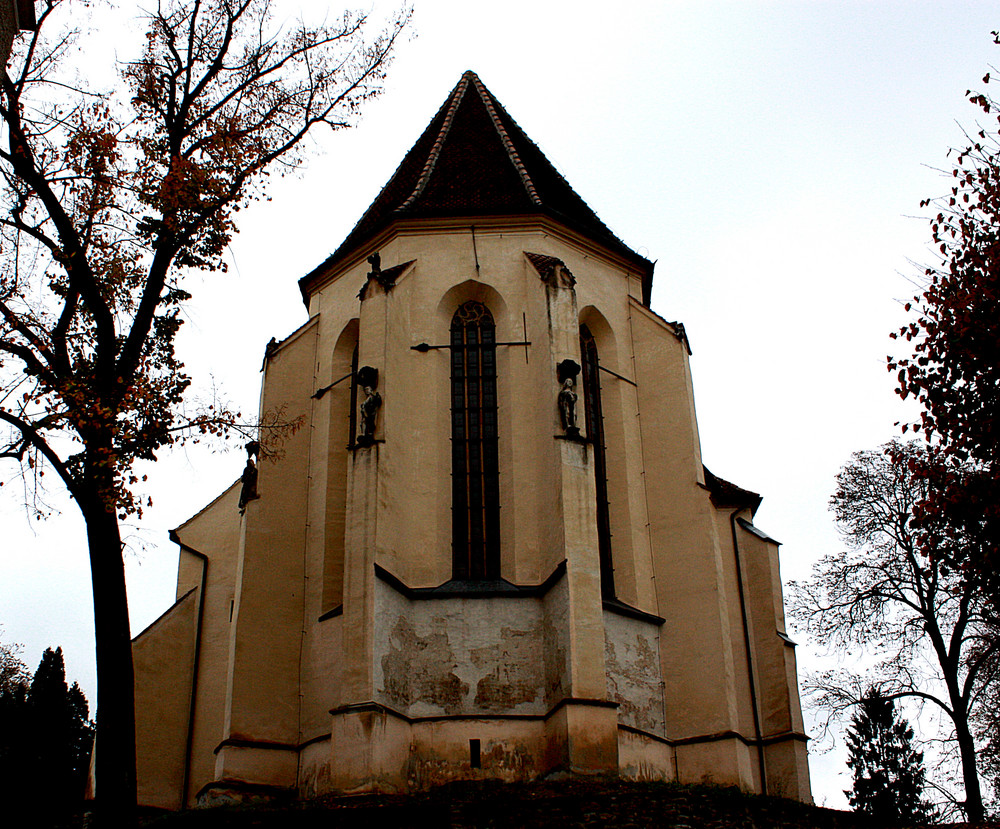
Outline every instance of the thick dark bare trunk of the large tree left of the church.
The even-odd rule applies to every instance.
[[[121,533],[113,506],[81,504],[87,522],[97,641],[96,805],[102,826],[136,819],[135,687]]]

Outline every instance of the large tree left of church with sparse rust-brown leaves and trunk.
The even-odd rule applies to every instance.
[[[184,275],[224,269],[269,171],[380,92],[409,12],[369,35],[364,14],[283,29],[270,0],[160,0],[116,102],[71,71],[104,59],[71,30],[88,5],[43,0],[2,77],[0,459],[54,473],[86,523],[99,797],[120,823],[136,791],[120,531],[141,515],[134,464],[240,425],[184,404]]]

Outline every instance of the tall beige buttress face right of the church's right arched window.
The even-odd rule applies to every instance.
[[[732,596],[704,489],[686,345],[648,309],[629,308],[656,612],[666,620],[666,733],[706,737],[738,726]]]

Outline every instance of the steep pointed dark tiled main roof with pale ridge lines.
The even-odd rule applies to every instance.
[[[627,247],[570,187],[474,72],[458,85],[339,248],[300,280],[347,258],[397,219],[544,214],[632,262],[651,285],[653,263]],[[648,288],[644,289],[648,304]]]

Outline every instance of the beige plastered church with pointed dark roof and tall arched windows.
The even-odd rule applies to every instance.
[[[266,349],[300,428],[178,527],[140,801],[611,775],[810,800],[778,545],[682,325],[466,72]],[[273,449],[273,448],[272,448]]]

